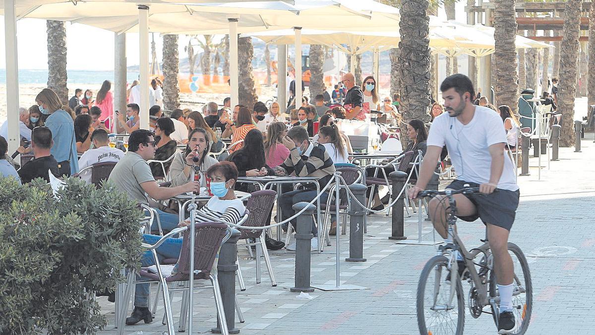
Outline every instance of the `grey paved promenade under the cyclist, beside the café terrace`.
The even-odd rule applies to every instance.
[[[518,178],[521,203],[510,240],[527,255],[533,278],[534,309],[527,334],[588,333],[595,325],[595,143],[593,134],[583,140],[583,152],[560,148],[560,160],[547,164],[542,156],[541,181],[537,159],[531,158],[531,175]],[[446,181],[443,181],[446,182]],[[417,218],[406,218],[406,235],[417,238]],[[424,223],[424,238],[433,233]],[[467,247],[480,244],[484,228],[480,222],[461,223],[459,234]],[[424,263],[434,255],[435,246],[411,246],[389,241],[390,219],[384,215],[368,218],[364,257],[367,262],[345,262],[348,235],[341,241],[341,279],[345,284],[367,290],[320,291],[299,299],[293,286],[295,253],[271,252],[278,286],[271,287],[266,272],[255,284],[254,260],[240,250],[240,263],[248,289],[237,297],[246,322],[237,327],[240,334],[416,334],[415,293]],[[312,253],[312,284],[335,280],[333,246],[323,253]],[[264,265],[264,264],[263,264]],[[264,266],[262,266],[265,269]],[[465,300],[468,286],[465,284]],[[114,305],[100,298],[109,324],[100,334],[115,334]],[[181,294],[173,300],[177,320]],[[215,324],[211,291],[195,295],[195,331],[208,333]],[[129,309],[130,312],[130,309]],[[152,324],[126,327],[126,334],[161,334],[161,306]],[[495,334],[491,315],[465,318],[465,334]],[[142,321],[141,321],[142,322]],[[177,326],[177,322],[176,322]],[[177,327],[176,327],[177,329]]]

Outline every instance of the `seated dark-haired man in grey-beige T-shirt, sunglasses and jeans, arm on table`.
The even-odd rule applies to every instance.
[[[109,181],[122,192],[128,194],[131,200],[149,205],[149,197],[155,200],[166,200],[186,192],[198,192],[201,183],[189,181],[177,187],[159,187],[151,168],[146,162],[155,158],[155,139],[153,133],[146,129],[133,131],[128,139],[128,152],[118,162],[109,175]],[[176,214],[166,213],[156,209],[161,221],[161,228],[170,231],[179,224]],[[158,230],[156,221],[151,227],[152,231]]]

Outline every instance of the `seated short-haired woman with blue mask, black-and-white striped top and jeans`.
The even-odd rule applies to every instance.
[[[246,207],[242,200],[236,197],[234,193],[234,185],[237,181],[237,168],[231,162],[217,163],[206,171],[206,175],[211,178],[211,192],[215,195],[208,203],[201,209],[196,211],[195,222],[213,222],[209,217],[219,218],[221,221],[231,224],[237,224],[244,213]],[[184,227],[190,224],[190,220],[180,222],[179,227]],[[143,240],[149,244],[155,244],[161,236],[143,234]],[[179,258],[183,237],[168,238],[157,247],[157,257],[159,262],[168,258]],[[146,251],[141,259],[143,267],[155,264],[155,259],[151,252]],[[177,265],[174,267],[172,274],[177,271]],[[148,307],[149,284],[137,284],[134,293],[134,311],[132,315],[126,319],[127,325],[133,325],[140,320],[148,320],[151,318],[151,311]],[[146,322],[146,321],[145,321]]]

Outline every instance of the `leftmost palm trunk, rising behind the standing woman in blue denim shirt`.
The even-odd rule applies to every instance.
[[[63,21],[48,20],[48,88],[52,89],[62,101],[68,104],[66,81],[66,28]]]

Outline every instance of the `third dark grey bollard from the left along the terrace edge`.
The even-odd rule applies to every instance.
[[[360,203],[366,201],[366,187],[362,184],[349,185],[349,190]],[[366,211],[355,200],[349,208],[349,258],[347,262],[365,262],[364,258],[364,216]],[[345,222],[343,223],[345,224]]]

